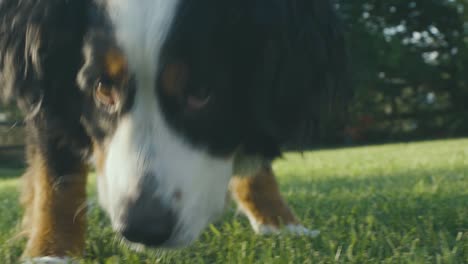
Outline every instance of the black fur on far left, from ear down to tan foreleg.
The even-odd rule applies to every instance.
[[[57,176],[76,169],[89,147],[75,81],[88,5],[0,1],[0,95],[26,114],[29,156],[39,153]]]

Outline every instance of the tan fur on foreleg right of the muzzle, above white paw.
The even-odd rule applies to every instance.
[[[281,197],[270,165],[263,166],[250,177],[245,175],[233,177],[230,190],[239,207],[258,224],[279,227],[298,223]]]

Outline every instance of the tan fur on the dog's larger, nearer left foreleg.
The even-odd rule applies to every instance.
[[[73,175],[54,182],[56,175],[39,155],[24,175],[23,220],[29,240],[23,257],[78,256],[83,253],[86,225],[86,174],[80,166]]]

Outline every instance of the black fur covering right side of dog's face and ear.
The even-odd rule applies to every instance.
[[[186,61],[197,71],[190,89],[217,95],[196,118],[163,101],[168,121],[192,141],[215,153],[241,144],[271,159],[297,130],[318,143],[339,127],[350,93],[328,1],[185,1],[176,21],[162,63]]]

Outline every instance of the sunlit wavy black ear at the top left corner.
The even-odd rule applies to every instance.
[[[0,99],[34,107],[44,93],[74,85],[89,2],[0,1]]]

